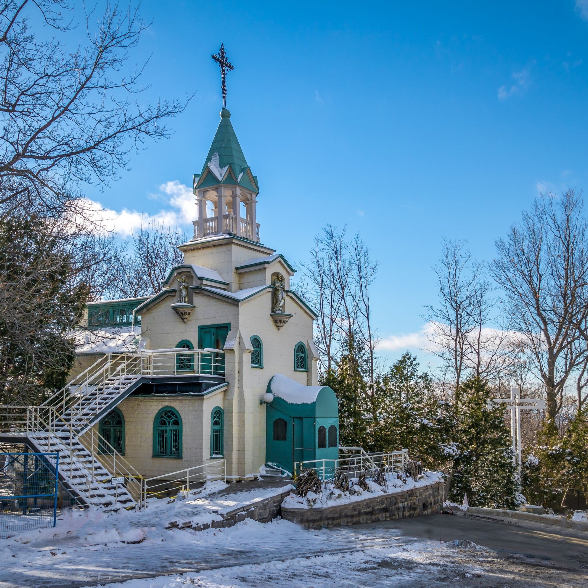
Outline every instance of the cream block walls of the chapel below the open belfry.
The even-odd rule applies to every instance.
[[[189,242],[181,249],[186,263],[172,270],[164,282],[170,287],[137,309],[141,312],[142,347],[172,349],[189,340],[198,349],[199,327],[229,323],[224,346],[227,386],[210,396],[129,396],[123,400],[118,408],[125,419],[125,457],[149,476],[205,463],[211,457],[212,410],[220,406],[227,473],[242,478],[258,472],[265,463],[266,407],[259,401],[270,378],[282,373],[303,385],[318,384],[318,358],[312,342],[314,315],[295,293],[288,292],[293,272],[281,256],[272,255],[273,250],[232,236]],[[235,269],[252,262],[256,265]],[[216,271],[228,285],[206,285],[212,282],[198,276],[202,268]],[[280,330],[271,316],[272,276],[278,272],[286,279],[285,312],[292,315]],[[188,302],[195,306],[186,322],[171,306],[178,302],[178,289],[171,287],[178,285],[178,276],[189,283]],[[250,365],[253,335],[263,344],[263,368]],[[299,342],[307,349],[308,371],[294,369],[294,350]],[[181,459],[152,457],[153,419],[164,406],[172,406],[182,418]]]

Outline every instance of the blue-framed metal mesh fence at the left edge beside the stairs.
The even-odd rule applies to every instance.
[[[0,453],[0,539],[55,526],[58,469],[58,453]]]

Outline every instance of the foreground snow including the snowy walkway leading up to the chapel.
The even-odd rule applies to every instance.
[[[165,529],[172,520],[212,520],[285,487],[213,482],[185,499],[150,500],[138,512],[62,513],[55,528],[0,540],[0,587],[512,585],[502,576],[500,584],[487,583],[497,562],[488,550],[401,537],[393,526],[305,530],[280,519],[248,519],[225,529]]]

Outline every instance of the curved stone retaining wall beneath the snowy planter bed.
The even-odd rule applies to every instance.
[[[372,523],[378,520],[440,513],[443,505],[443,483],[436,482],[412,490],[358,500],[326,508],[290,509],[282,507],[282,518],[302,524],[307,529]]]

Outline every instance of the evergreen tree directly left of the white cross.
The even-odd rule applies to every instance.
[[[460,386],[453,448],[450,498],[470,506],[516,507],[516,466],[505,426],[503,407],[487,406],[490,388],[478,377]]]

